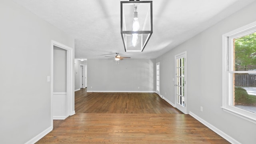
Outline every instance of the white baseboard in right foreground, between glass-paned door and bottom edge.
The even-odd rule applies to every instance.
[[[189,112],[189,114],[190,114],[190,116],[194,117],[196,120],[198,120],[199,122],[201,122],[202,124],[204,124],[205,126],[210,128],[212,131],[216,132],[222,138],[226,139],[231,144],[241,144],[240,142],[238,142],[237,140],[235,140],[231,136],[227,135],[226,133],[222,132],[220,129],[216,128],[215,126],[211,125],[210,123],[206,122],[205,120],[203,120],[202,118],[200,118],[196,114],[194,114],[192,112]]]

